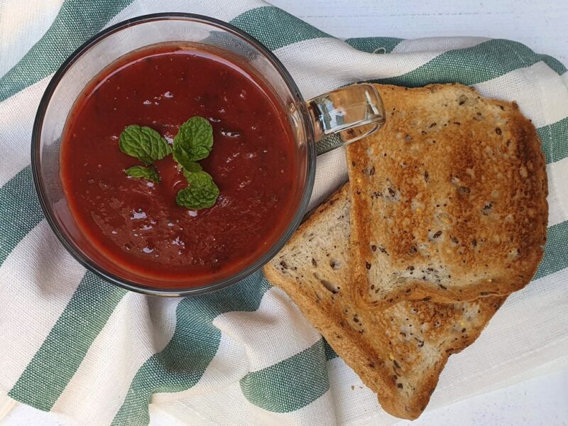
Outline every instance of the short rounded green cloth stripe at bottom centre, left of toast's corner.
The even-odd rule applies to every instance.
[[[278,364],[241,378],[241,391],[250,403],[273,413],[290,413],[320,398],[329,389],[324,343]]]

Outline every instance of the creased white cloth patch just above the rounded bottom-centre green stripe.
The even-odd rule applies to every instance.
[[[249,371],[258,371],[290,358],[321,339],[288,296],[271,288],[255,312],[227,312],[215,327],[244,347]]]

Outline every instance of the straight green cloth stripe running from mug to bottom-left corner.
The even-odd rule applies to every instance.
[[[49,411],[125,294],[126,290],[87,272],[8,395]]]

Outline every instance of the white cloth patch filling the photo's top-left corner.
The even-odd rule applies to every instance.
[[[0,4],[0,77],[48,31],[63,0],[5,0]]]

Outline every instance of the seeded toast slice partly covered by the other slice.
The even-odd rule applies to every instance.
[[[503,302],[398,302],[359,309],[349,292],[349,184],[322,204],[264,268],[391,415],[425,409],[450,354],[474,342]]]

